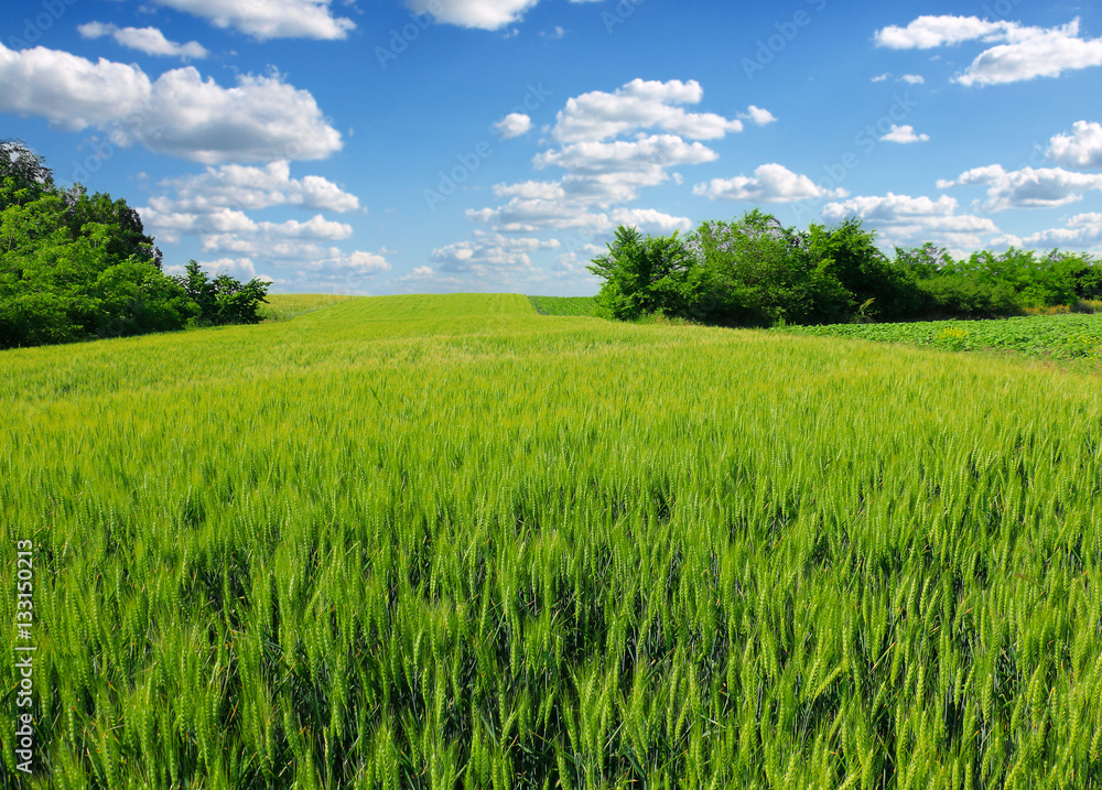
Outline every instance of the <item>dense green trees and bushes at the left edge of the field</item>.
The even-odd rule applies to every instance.
[[[25,143],[0,141],[0,348],[253,324],[267,293],[194,260],[165,274],[126,201],[63,188]]]

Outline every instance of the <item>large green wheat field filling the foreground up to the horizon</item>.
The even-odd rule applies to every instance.
[[[0,354],[4,787],[1102,788],[1096,375],[278,302]]]

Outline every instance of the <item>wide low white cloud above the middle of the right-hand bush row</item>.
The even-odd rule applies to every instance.
[[[958,214],[957,209],[957,201],[948,195],[933,201],[889,192],[828,203],[823,217],[832,221],[860,217],[880,232],[882,241],[900,246],[934,241],[961,250],[975,249],[982,246],[983,236],[997,232],[991,218]]]

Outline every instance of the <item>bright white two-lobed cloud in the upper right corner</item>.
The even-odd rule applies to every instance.
[[[1057,28],[1036,28],[976,17],[923,15],[905,28],[876,32],[879,46],[928,50],[966,41],[993,44],[953,79],[961,85],[997,85],[1102,65],[1102,39],[1080,36],[1079,20]]]

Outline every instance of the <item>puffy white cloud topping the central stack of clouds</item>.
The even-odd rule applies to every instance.
[[[553,134],[563,143],[596,142],[644,130],[661,130],[690,140],[717,140],[743,130],[737,119],[687,112],[679,106],[700,104],[703,96],[696,80],[634,79],[612,94],[594,90],[569,99],[558,115]],[[752,107],[749,115],[758,119],[773,117],[757,107]]]

